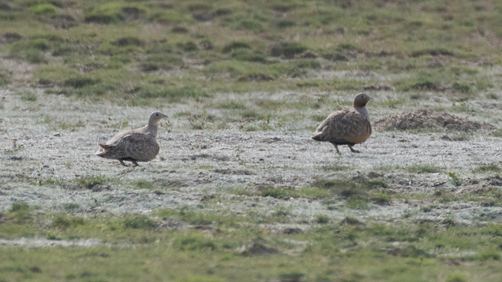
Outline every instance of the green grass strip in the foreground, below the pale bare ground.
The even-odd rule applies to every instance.
[[[4,212],[0,219],[5,220],[10,213],[26,210],[27,207],[21,204],[20,208],[13,209]],[[277,208],[273,213],[279,218],[289,211]],[[160,210],[156,216],[174,220],[172,222],[183,220],[206,226],[216,224],[218,227],[189,230],[164,228],[144,215],[83,220],[55,214],[50,226],[45,227],[38,224],[45,220],[42,214],[33,216],[31,222],[3,221],[3,226],[10,226],[10,230],[15,230],[12,234],[22,235],[25,227],[30,226],[35,232],[43,232],[41,234],[46,238],[55,241],[102,238],[108,243],[120,243],[122,246],[32,248],[29,252],[21,246],[4,248],[3,255],[12,260],[0,262],[0,277],[24,275],[32,280],[59,276],[64,279],[105,279],[113,275],[120,279],[154,279],[159,275],[170,275],[180,281],[192,278],[194,281],[223,281],[231,277],[245,279],[252,273],[258,273],[270,280],[291,277],[334,280],[342,276],[347,281],[382,278],[420,281],[413,278],[420,273],[428,281],[443,281],[444,277],[448,277],[448,281],[462,281],[457,273],[458,265],[445,263],[447,261],[463,263],[463,273],[492,273],[496,277],[501,273],[495,267],[501,259],[496,251],[502,236],[500,224],[438,226],[427,221],[364,224],[351,217],[345,218],[340,224],[331,222],[327,215],[318,213],[314,216],[314,221],[321,227],[312,231],[288,234],[268,232],[263,236],[266,229],[259,227],[259,224],[236,224],[235,219],[238,217],[231,214],[198,213],[180,209]],[[444,222],[451,220],[445,219]],[[13,226],[17,228],[12,228]],[[0,229],[2,234],[5,234],[5,227]],[[208,230],[210,236],[205,235]],[[131,243],[134,247],[123,247]],[[258,245],[262,247],[257,247]],[[263,246],[273,248],[277,253],[262,254],[260,248],[264,249]],[[243,250],[247,250],[245,256],[242,255]],[[287,255],[288,252],[301,255]],[[284,264],[286,258],[287,265]],[[151,259],[171,267],[168,270],[162,267],[150,268],[145,261]],[[215,261],[221,267],[214,267]],[[239,271],[228,271],[231,265],[240,265]],[[259,267],[260,265],[268,267]],[[145,267],[149,271],[145,271]],[[441,269],[440,274],[435,272],[438,268]],[[187,271],[190,271],[191,276],[186,275]],[[496,278],[488,279],[495,280]]]

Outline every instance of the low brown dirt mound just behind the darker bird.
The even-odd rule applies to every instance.
[[[419,110],[413,113],[401,113],[374,122],[375,128],[384,130],[407,130],[417,128],[446,128],[456,131],[475,131],[479,129],[493,130],[487,123],[470,121],[448,113]]]

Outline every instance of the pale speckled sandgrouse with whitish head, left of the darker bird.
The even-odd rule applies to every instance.
[[[99,143],[100,148],[94,155],[118,160],[123,166],[127,166],[124,161],[139,166],[138,162],[153,160],[159,153],[157,123],[163,118],[167,116],[161,112],[153,112],[146,126],[119,132],[106,144]]]

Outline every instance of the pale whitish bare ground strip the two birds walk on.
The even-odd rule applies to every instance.
[[[308,94],[286,93],[282,98],[280,94],[267,98],[294,101],[305,95]],[[392,95],[395,94],[371,93],[374,100],[368,104],[368,109],[373,124],[401,112],[431,108],[438,103],[426,99],[422,104],[403,106],[399,110],[372,107],[371,103],[390,99]],[[148,214],[159,208],[181,207],[258,216],[285,210],[292,224],[299,226],[302,220],[312,221],[318,214],[325,214],[333,221],[346,216],[364,222],[441,221],[446,217],[460,223],[483,221],[483,218],[495,222],[502,220],[502,208],[464,196],[502,186],[499,173],[473,170],[480,165],[500,163],[501,139],[490,136],[488,129],[465,133],[376,128],[364,144],[355,146],[360,154],[351,153],[343,146],[339,156],[331,144],[310,138],[318,122],[311,119],[288,121],[288,115],[299,111],[295,109],[278,110],[270,121],[269,130],[246,132],[240,129],[246,121],[238,117],[216,118],[206,121],[204,129],[193,129],[193,119],[179,115],[180,112],[203,112],[215,117],[228,114],[203,102],[152,108],[47,95],[40,90],[36,92],[36,101],[23,100],[21,95],[9,90],[3,90],[0,96],[5,97],[0,112],[0,211],[9,209],[14,201],[26,201],[30,206],[39,207],[39,212],[63,211],[65,204],[75,203],[79,206],[76,213],[81,216]],[[346,93],[336,99],[350,101],[353,96],[353,93]],[[214,98],[211,103],[228,99],[248,103],[263,97],[260,93],[228,94]],[[443,103],[446,104],[446,100]],[[494,121],[499,105],[498,100],[473,101],[469,107],[479,115],[452,114],[465,120],[493,124],[496,128]],[[158,142],[161,149],[152,162],[140,163],[139,167],[123,167],[118,161],[93,155],[96,143],[105,142],[120,130],[145,125],[154,110],[162,111],[169,118],[160,123]],[[330,110],[321,107],[305,111],[311,112],[301,114],[309,116]],[[263,121],[255,121],[260,122]],[[16,147],[14,139],[17,139]],[[413,173],[406,169],[423,165],[436,167],[438,172]],[[461,185],[455,185],[451,173],[461,178]],[[302,197],[273,198],[253,194],[260,187],[301,189],[319,179],[329,181],[357,176],[382,179],[387,183],[387,187],[380,189],[392,195],[390,203],[370,203],[367,209],[354,209],[347,208],[341,198],[326,204],[323,200]],[[74,181],[82,177],[103,177],[106,181],[84,188]],[[153,188],[138,187],[145,182],[153,183]],[[455,200],[441,201],[438,195],[444,193]],[[428,209],[424,211],[425,207]]]

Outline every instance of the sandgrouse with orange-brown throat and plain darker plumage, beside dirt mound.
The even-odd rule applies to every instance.
[[[366,103],[370,99],[372,98],[365,93],[357,94],[354,107],[329,115],[317,127],[312,139],[330,142],[335,145],[338,154],[341,154],[338,145],[347,145],[352,153],[359,153],[352,146],[366,141],[371,135],[371,123],[366,109]]]

